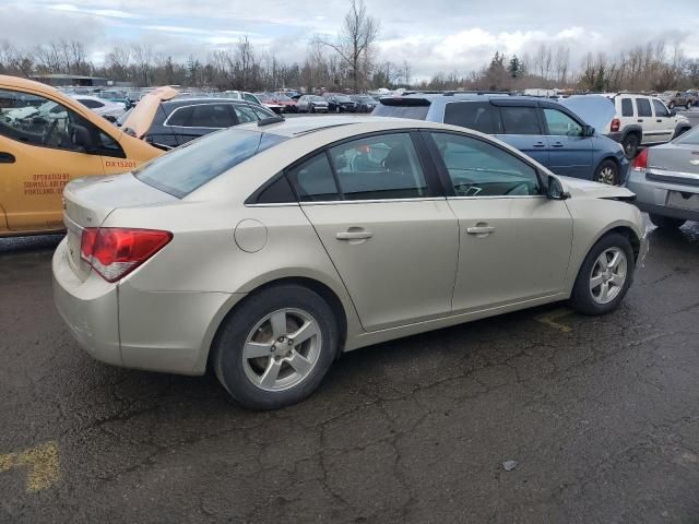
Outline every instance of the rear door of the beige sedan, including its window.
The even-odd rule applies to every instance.
[[[366,135],[287,171],[367,331],[451,311],[458,224],[420,143]]]

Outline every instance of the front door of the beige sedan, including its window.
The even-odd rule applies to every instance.
[[[459,219],[454,312],[561,293],[572,241],[566,203],[544,196],[536,169],[512,153],[475,136],[430,135]]]

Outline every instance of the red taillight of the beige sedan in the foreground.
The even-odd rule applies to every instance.
[[[149,260],[173,239],[169,231],[87,227],[80,257],[107,282],[117,282]]]

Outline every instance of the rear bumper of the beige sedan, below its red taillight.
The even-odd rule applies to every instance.
[[[52,261],[54,299],[78,344],[112,366],[202,374],[221,321],[245,294],[154,291],[118,285],[96,274],[82,282],[68,260],[67,241]]]

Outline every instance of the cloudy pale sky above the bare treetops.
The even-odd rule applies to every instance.
[[[651,39],[699,58],[697,0],[367,0],[381,22],[382,60],[408,60],[414,78],[467,73],[496,51],[534,53],[567,44],[576,67],[588,51],[615,55]],[[185,59],[248,35],[256,49],[303,60],[317,33],[334,34],[347,0],[0,0],[0,38],[20,46],[76,38],[100,62],[118,44],[146,43]]]

